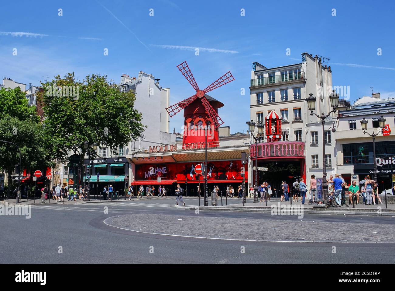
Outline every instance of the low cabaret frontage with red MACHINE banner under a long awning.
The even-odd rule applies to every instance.
[[[207,184],[211,193],[218,185],[222,195],[225,196],[226,186],[231,185],[237,193],[237,188],[243,182],[241,171],[241,152],[249,155],[249,135],[229,135],[219,137],[219,141],[209,143],[207,147]],[[189,143],[177,145],[157,146],[150,151],[134,154],[129,157],[132,164],[130,181],[135,191],[143,185],[144,191],[148,185],[155,187],[158,195],[158,186],[165,186],[167,194],[175,195],[177,184],[186,189],[187,196],[197,196],[197,186],[200,182],[201,195],[203,195],[202,175],[196,175],[194,167],[205,161],[205,144]],[[158,172],[161,182],[158,183]],[[245,179],[248,177],[245,165]],[[137,193],[137,192],[135,192]],[[236,194],[237,195],[237,194]]]

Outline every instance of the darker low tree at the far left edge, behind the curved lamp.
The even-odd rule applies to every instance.
[[[36,115],[30,119],[19,120],[17,117],[5,116],[0,119],[0,140],[15,143],[21,150],[23,169],[35,170],[51,167],[48,151],[45,146],[45,134]],[[0,168],[8,173],[8,193],[12,185],[11,173],[19,164],[19,152],[14,145],[0,143]]]

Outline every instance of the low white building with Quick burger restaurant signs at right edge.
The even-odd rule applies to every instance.
[[[378,133],[375,137],[377,179],[380,192],[390,189],[395,182],[395,99],[361,98],[352,110],[339,112],[336,139],[337,172],[350,183],[362,181],[366,175],[374,177],[372,137],[363,134],[361,120],[368,121],[367,132]],[[362,100],[363,99],[363,100]],[[365,102],[368,101],[368,102]],[[378,118],[386,118],[384,133]],[[392,132],[391,132],[392,131]]]

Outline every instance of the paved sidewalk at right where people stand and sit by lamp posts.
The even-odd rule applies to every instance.
[[[380,197],[381,198],[381,197]],[[342,207],[324,207],[325,204],[301,204],[301,202],[292,202],[292,207],[302,207],[303,212],[309,214],[341,214],[341,215],[384,215],[384,216],[395,216],[395,204],[388,203],[393,202],[393,197],[388,199],[387,196],[387,209],[385,208],[385,202],[382,198],[383,205],[363,205],[363,204],[355,204],[355,208],[353,208],[352,204],[348,204],[347,206]],[[272,213],[273,209],[287,209],[291,206],[290,202],[280,202],[278,198],[272,198],[271,201],[267,202],[267,206],[265,206],[265,202],[254,203],[252,198],[247,199],[247,203],[243,206],[241,199],[239,199],[241,203],[225,205],[225,201],[223,199],[223,206],[221,205],[221,200],[218,200],[218,206],[211,206],[211,198],[209,197],[209,206],[201,206],[201,207],[186,207],[188,210],[196,210],[199,208],[199,211],[231,211],[231,212],[262,212],[262,213]],[[389,201],[390,200],[390,201]],[[260,200],[259,200],[260,201]],[[322,206],[321,206],[322,205]],[[295,208],[296,209],[296,208]]]

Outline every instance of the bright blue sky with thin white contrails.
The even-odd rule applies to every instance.
[[[0,78],[37,86],[45,76],[74,71],[80,79],[107,74],[118,83],[121,74],[143,70],[171,88],[174,104],[195,93],[176,68],[183,61],[201,89],[230,70],[235,81],[209,95],[225,104],[219,114],[232,133],[247,129],[254,61],[289,65],[301,62],[307,51],[331,59],[333,85],[350,86],[351,100],[371,95],[371,86],[382,97],[395,97],[395,4],[327,2],[2,1]],[[214,51],[201,49],[197,56],[195,47]],[[240,94],[242,87],[246,95]],[[171,128],[181,124],[180,112]]]

